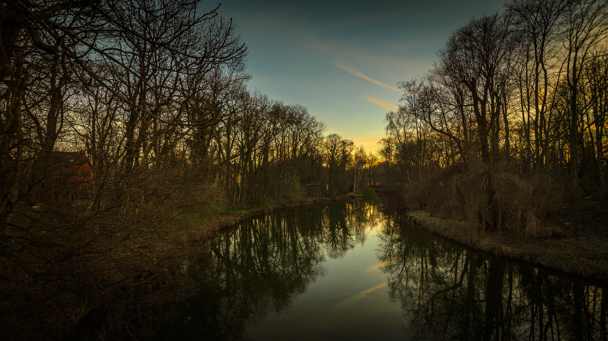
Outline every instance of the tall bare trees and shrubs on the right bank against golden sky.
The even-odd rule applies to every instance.
[[[608,3],[516,0],[471,19],[386,116],[385,176],[473,229],[546,234],[561,201],[606,197]]]

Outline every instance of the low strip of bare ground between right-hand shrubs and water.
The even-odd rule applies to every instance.
[[[407,215],[418,227],[480,251],[608,281],[606,204],[582,201],[574,208],[556,211],[547,221],[554,233],[530,242],[520,241],[507,231],[469,235],[465,221],[434,217],[426,210]]]

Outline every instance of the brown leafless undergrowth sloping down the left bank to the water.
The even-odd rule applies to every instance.
[[[151,337],[158,323],[170,318],[163,307],[196,292],[197,281],[215,278],[190,275],[212,258],[204,240],[215,231],[280,209],[361,196],[295,197],[237,207],[215,187],[196,186],[196,178],[167,172],[161,177],[168,179],[157,181],[163,189],[139,187],[115,195],[116,189],[106,188],[96,209],[88,201],[71,195],[62,201],[55,194],[15,211],[16,223],[32,223],[7,230],[20,231],[10,246],[35,240],[36,249],[19,255],[3,273],[0,288],[11,293],[0,304],[1,311],[10,312],[0,323],[7,339],[86,339],[86,325],[100,320],[117,323],[102,328],[110,334],[123,328],[123,334]],[[120,200],[125,202],[117,204]]]

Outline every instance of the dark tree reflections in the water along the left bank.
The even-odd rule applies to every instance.
[[[247,323],[288,309],[376,225],[373,201],[307,206],[244,221],[210,241],[213,257],[189,266],[199,291],[173,306],[159,339],[241,339]]]

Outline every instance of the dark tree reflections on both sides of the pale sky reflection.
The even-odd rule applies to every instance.
[[[374,248],[388,277],[390,299],[401,302],[406,316],[403,337],[606,341],[606,283],[480,254],[414,228],[403,218],[381,214],[373,201],[364,200],[243,221],[173,266],[176,277],[193,282],[167,284],[173,291],[164,295],[175,297],[173,303],[154,313],[140,308],[145,304],[102,312],[106,318],[96,322],[97,330],[80,333],[84,337],[78,339],[143,340],[151,334],[158,340],[243,339],[252,323],[288,310],[295,297],[324,275],[326,259],[341,259],[363,245],[371,231],[378,234]],[[185,288],[195,289],[188,294]],[[361,293],[363,297],[365,290]],[[133,302],[145,303],[145,297]],[[330,308],[336,304],[328,302],[333,302]],[[348,316],[344,319],[348,323]]]

